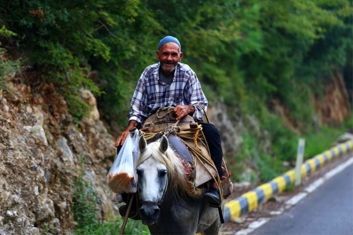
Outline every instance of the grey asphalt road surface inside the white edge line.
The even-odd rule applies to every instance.
[[[353,235],[353,164],[252,235]]]

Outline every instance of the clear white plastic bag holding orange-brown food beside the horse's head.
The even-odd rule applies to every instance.
[[[112,167],[106,177],[108,187],[114,193],[135,193],[137,191],[137,174],[135,167],[140,155],[138,149],[138,130],[131,137],[127,135],[119,154],[116,156]]]

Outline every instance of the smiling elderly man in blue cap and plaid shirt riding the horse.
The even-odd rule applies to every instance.
[[[122,146],[130,128],[139,128],[144,120],[160,107],[175,106],[172,113],[177,116],[177,120],[191,115],[195,122],[202,122],[204,113],[202,108],[197,105],[202,105],[207,109],[208,101],[202,92],[195,72],[188,65],[180,63],[183,53],[178,39],[172,36],[164,37],[158,45],[156,57],[159,62],[148,66],[138,80],[131,101],[128,126],[116,140],[116,148]],[[220,132],[209,123],[202,122],[202,127],[211,158],[222,179],[223,152]],[[213,205],[220,203],[215,182],[204,198],[206,202]]]

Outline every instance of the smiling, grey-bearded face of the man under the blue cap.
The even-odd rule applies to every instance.
[[[183,57],[183,53],[180,52],[179,45],[174,42],[165,43],[161,49],[156,52],[157,59],[161,63],[162,72],[167,75],[174,71],[177,67],[178,62]]]

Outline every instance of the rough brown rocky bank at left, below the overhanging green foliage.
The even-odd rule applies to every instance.
[[[13,86],[0,91],[0,234],[66,234],[74,227],[73,181],[84,160],[101,217],[117,212],[115,195],[105,177],[116,155],[94,96],[82,98],[93,107],[75,126],[61,95],[52,85],[38,91]],[[110,159],[110,160],[109,160]]]

